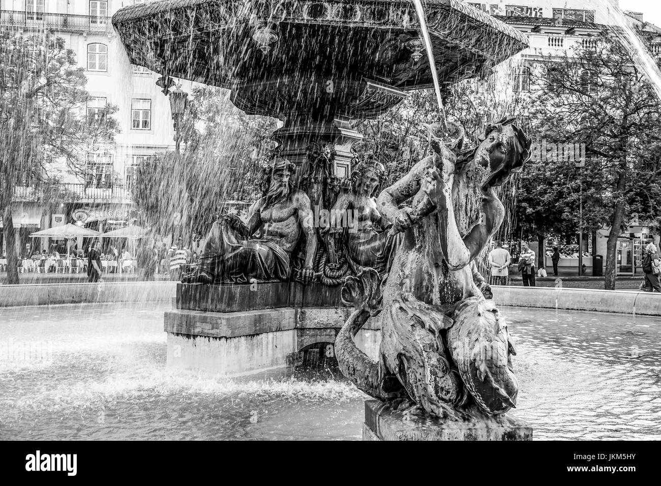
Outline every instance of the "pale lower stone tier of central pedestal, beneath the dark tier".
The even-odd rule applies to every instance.
[[[293,354],[315,344],[332,345],[351,311],[350,307],[241,312],[173,309],[165,313],[167,365],[239,376],[286,366],[290,358],[295,364]],[[369,321],[356,335],[356,345],[372,359],[378,356],[380,341],[377,320]]]

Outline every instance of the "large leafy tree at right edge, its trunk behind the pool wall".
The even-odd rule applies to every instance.
[[[585,147],[586,158],[582,168],[562,155],[529,163],[520,216],[553,222],[557,230],[578,228],[582,194],[583,229],[609,227],[604,288],[612,290],[617,239],[629,217],[660,216],[654,202],[661,196],[661,104],[618,40],[602,38],[536,71],[530,120],[537,139],[570,151]]]

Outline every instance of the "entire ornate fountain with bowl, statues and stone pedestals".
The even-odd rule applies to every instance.
[[[165,315],[168,364],[233,375],[302,350],[336,352],[342,372],[383,400],[366,405],[366,438],[527,439],[527,425],[502,415],[516,401],[514,346],[473,260],[502,222],[492,187],[520,169],[529,140],[502,120],[462,151],[463,128],[442,120],[428,126],[434,154],[378,204],[379,165],[351,153],[360,134],[350,120],[379,116],[410,90],[440,95],[527,46],[458,0],[428,1],[420,18],[424,39],[405,1],[165,0],[113,17],[130,61],[161,73],[166,95],[171,77],[225,87],[245,112],[284,122],[262,198],[246,220],[214,224],[178,285]],[[320,211],[352,204],[372,215],[358,220],[361,237],[317,225]],[[498,360],[475,358],[473,346]]]

